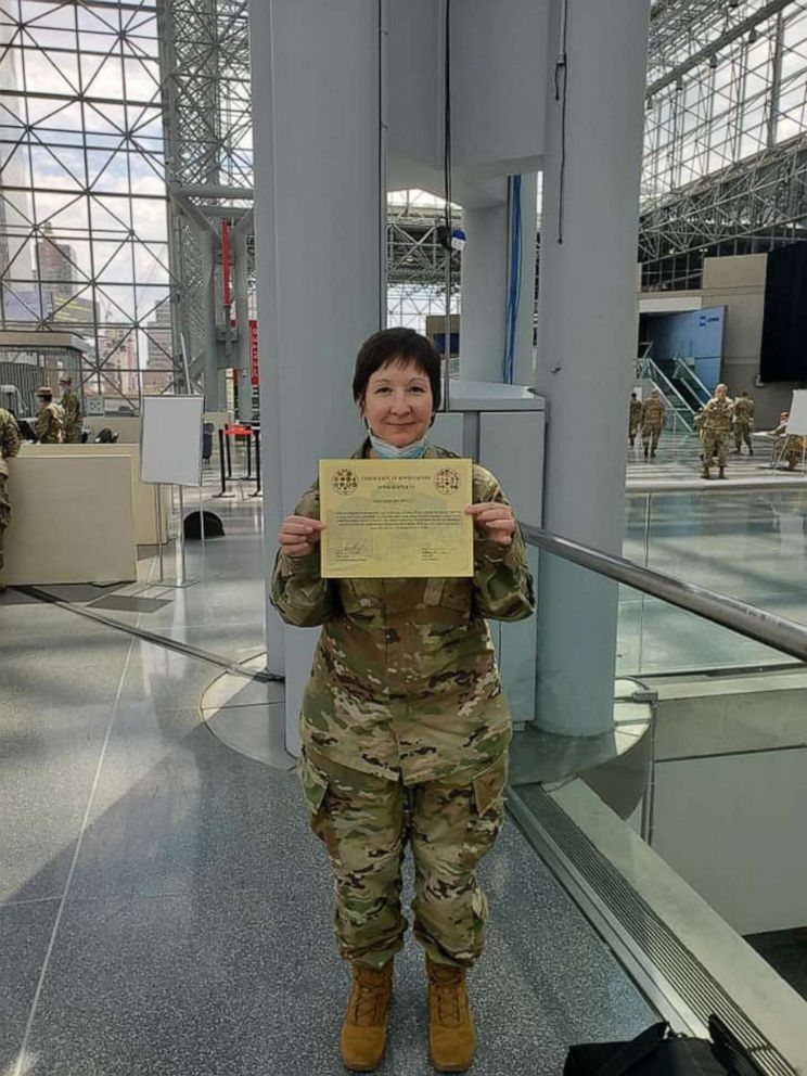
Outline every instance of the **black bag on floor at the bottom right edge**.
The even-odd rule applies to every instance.
[[[653,1024],[630,1042],[569,1047],[564,1076],[763,1076],[741,1043],[717,1016],[707,1039],[674,1035]]]

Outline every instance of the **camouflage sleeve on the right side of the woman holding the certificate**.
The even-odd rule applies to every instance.
[[[483,501],[509,503],[494,475],[474,467],[474,503]],[[533,576],[518,527],[509,546],[488,541],[474,528],[474,604],[492,620],[523,620],[535,612]]]

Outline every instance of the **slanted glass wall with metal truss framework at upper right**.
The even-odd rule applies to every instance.
[[[656,0],[644,145],[644,287],[697,287],[704,256],[804,239],[806,0]]]

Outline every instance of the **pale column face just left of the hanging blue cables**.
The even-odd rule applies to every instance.
[[[508,287],[508,207],[465,209],[462,215],[462,317],[460,376],[501,381]]]

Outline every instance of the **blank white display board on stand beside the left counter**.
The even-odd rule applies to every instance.
[[[144,396],[141,482],[202,484],[203,396]]]

